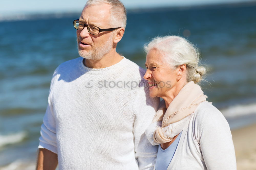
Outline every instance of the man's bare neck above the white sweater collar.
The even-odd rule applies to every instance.
[[[110,67],[123,59],[115,50],[105,54],[100,60],[84,59],[83,64],[89,68]]]

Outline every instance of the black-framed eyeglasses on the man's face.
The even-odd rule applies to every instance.
[[[77,30],[83,30],[84,27],[87,27],[88,32],[93,35],[98,35],[102,31],[113,31],[115,29],[121,28],[121,27],[118,27],[118,28],[101,29],[101,28],[93,26],[93,25],[84,24],[81,21],[79,21],[78,19],[73,21],[73,25],[74,25],[74,28]]]

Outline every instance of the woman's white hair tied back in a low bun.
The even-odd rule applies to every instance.
[[[198,66],[200,64],[199,51],[191,42],[182,37],[174,35],[156,37],[150,43],[145,44],[144,49],[147,53],[153,49],[157,50],[163,60],[173,69],[186,64],[188,82],[199,83],[206,74],[206,68]]]

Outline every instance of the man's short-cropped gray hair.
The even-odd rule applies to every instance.
[[[110,15],[112,18],[112,27],[126,27],[126,9],[122,2],[119,0],[88,0],[85,4],[86,6],[98,5],[101,3],[106,3],[111,5]]]

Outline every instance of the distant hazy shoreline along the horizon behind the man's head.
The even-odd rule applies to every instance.
[[[239,8],[239,7],[255,7],[254,2],[238,2],[238,3],[221,3],[221,4],[207,4],[207,5],[189,5],[189,6],[175,6],[175,7],[145,7],[145,8],[128,8],[127,13],[147,13],[155,11],[182,11],[182,10],[197,10],[197,9],[219,9],[219,8]],[[49,19],[49,18],[64,18],[79,16],[80,11],[41,11],[41,12],[19,12],[15,14],[0,14],[0,21],[13,20],[32,20],[32,19]]]

